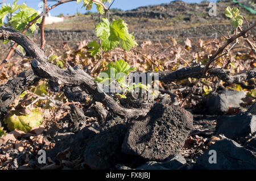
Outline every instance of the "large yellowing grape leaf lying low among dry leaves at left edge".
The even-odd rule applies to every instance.
[[[19,129],[20,131],[28,132],[34,127],[38,127],[43,121],[43,113],[35,109],[30,115],[16,115],[13,113],[3,120],[7,124],[9,131]]]

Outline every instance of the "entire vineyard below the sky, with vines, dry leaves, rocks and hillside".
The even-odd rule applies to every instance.
[[[1,4],[1,170],[256,169],[255,14],[43,2]]]

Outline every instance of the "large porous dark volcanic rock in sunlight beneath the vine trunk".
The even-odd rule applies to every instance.
[[[183,147],[193,128],[193,116],[178,106],[156,103],[146,119],[134,121],[122,151],[146,160],[163,161]]]

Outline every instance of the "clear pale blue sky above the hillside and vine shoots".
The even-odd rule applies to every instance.
[[[3,0],[0,0],[2,2]],[[210,0],[210,2],[214,2],[216,0]],[[18,0],[18,4],[26,3],[28,6],[39,10],[40,9],[40,3],[42,4],[42,1],[40,0]],[[118,8],[122,10],[131,10],[135,9],[140,6],[147,6],[147,5],[159,5],[161,3],[170,3],[171,0],[115,0],[113,3],[112,8]],[[185,2],[201,2],[201,0],[185,0]],[[5,3],[13,3],[13,0],[6,0]],[[54,5],[56,2],[48,2],[48,5]],[[85,8],[82,7],[82,2],[77,4],[76,2],[68,2],[63,5],[60,5],[58,7],[55,7],[55,9],[52,9],[51,15],[59,15],[60,13],[63,13],[64,15],[67,14],[76,14],[77,11],[80,13],[85,13]],[[96,8],[93,7],[92,11],[96,11]]]

